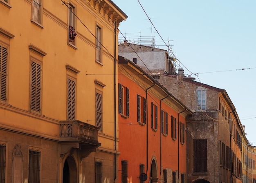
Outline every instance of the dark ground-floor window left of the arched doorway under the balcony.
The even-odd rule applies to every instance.
[[[40,151],[29,149],[29,183],[40,183]]]

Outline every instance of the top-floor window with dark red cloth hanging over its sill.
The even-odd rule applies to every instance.
[[[68,8],[69,8],[69,27],[68,27],[68,42],[72,45],[75,45],[75,36],[76,36],[76,19],[74,14],[76,13],[76,9],[72,4],[68,4]]]

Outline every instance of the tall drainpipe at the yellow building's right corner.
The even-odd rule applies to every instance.
[[[114,181],[117,179],[117,109],[116,109],[116,54],[117,54],[117,21],[115,21],[115,35],[114,35],[114,123],[115,123],[115,175]]]

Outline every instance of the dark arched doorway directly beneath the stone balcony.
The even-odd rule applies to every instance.
[[[76,162],[72,156],[67,156],[63,167],[63,183],[77,183]]]

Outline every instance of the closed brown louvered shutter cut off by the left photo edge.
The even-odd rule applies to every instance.
[[[7,48],[0,45],[0,100],[6,101]]]

